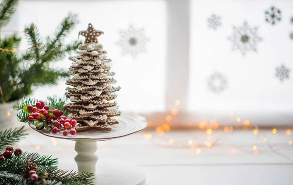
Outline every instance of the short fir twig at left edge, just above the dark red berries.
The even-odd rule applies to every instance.
[[[0,150],[5,149],[8,145],[13,145],[26,136],[24,126],[15,129],[6,129],[0,131]]]

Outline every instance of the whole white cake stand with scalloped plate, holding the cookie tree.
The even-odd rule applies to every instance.
[[[76,135],[64,136],[62,133],[54,134],[47,130],[37,130],[43,135],[59,139],[75,141],[77,152],[75,162],[78,172],[95,173],[96,185],[146,185],[146,175],[138,166],[114,159],[99,160],[96,155],[98,149],[96,141],[105,141],[124,137],[146,128],[146,119],[134,113],[122,113],[115,119],[119,124],[113,125],[112,131],[85,130]]]

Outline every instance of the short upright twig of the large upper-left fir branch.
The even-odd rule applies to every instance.
[[[24,29],[24,32],[34,50],[35,59],[38,62],[41,59],[40,46],[42,44],[42,39],[40,37],[39,30],[34,23],[31,23],[28,27]]]

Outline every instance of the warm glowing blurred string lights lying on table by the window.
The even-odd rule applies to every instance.
[[[180,101],[176,100],[175,105],[177,105],[178,102]],[[184,139],[180,139],[180,136],[178,135],[177,135],[177,138],[169,137],[169,135],[165,133],[172,130],[172,119],[176,120],[176,115],[180,115],[179,111],[177,111],[175,115],[172,112],[173,112],[173,109],[171,110],[171,115],[166,115],[165,120],[168,121],[168,123],[167,124],[164,123],[163,125],[156,127],[157,134],[153,134],[151,138],[146,137],[147,134],[150,134],[148,131],[149,129],[146,129],[145,130],[146,134],[144,135],[144,139],[150,140],[153,144],[162,148],[190,148],[190,149],[195,149],[196,153],[200,154],[202,153],[202,150],[204,148],[214,148],[214,147],[219,147],[226,144],[230,146],[229,143],[225,144],[224,139],[230,138],[231,135],[233,134],[233,131],[242,130],[242,131],[252,132],[251,134],[255,135],[256,137],[255,143],[251,144],[251,149],[249,149],[248,146],[245,146],[245,148],[240,146],[235,147],[235,144],[233,144],[234,146],[233,145],[230,146],[231,154],[236,154],[239,152],[242,152],[242,153],[253,152],[254,154],[258,154],[260,152],[266,153],[267,151],[261,147],[262,144],[265,144],[269,148],[268,151],[271,151],[275,153],[276,155],[284,157],[288,159],[290,162],[293,162],[293,160],[290,157],[277,151],[277,149],[280,149],[283,146],[286,147],[286,145],[278,145],[277,147],[274,148],[268,141],[268,137],[263,130],[261,130],[257,125],[252,124],[250,120],[248,119],[244,119],[241,122],[240,117],[235,118],[236,125],[234,127],[233,126],[222,127],[216,122],[215,119],[210,119],[209,121],[200,122],[197,127],[198,129],[194,129],[194,127],[188,128],[188,126],[185,125],[185,129],[187,130],[184,133],[189,132],[190,133],[189,137],[191,136],[194,137],[191,140],[189,138],[186,141],[184,141]],[[230,113],[229,116],[233,117],[234,114]],[[223,123],[223,120],[221,120],[221,122]],[[154,126],[152,121],[149,121],[148,123],[151,123],[149,126]],[[188,125],[191,125],[191,124],[188,123]],[[206,131],[204,132],[205,129]],[[213,130],[215,131],[217,130],[216,133],[218,134],[221,133],[221,131],[219,130],[222,130],[222,134],[220,134],[216,138],[213,138],[214,137]],[[271,131],[272,131],[271,132],[272,134],[277,133],[276,128],[271,129]],[[286,133],[284,135],[286,136],[291,135],[290,129],[286,129],[285,131]],[[199,133],[202,134],[201,135],[202,137],[198,136]],[[208,139],[205,141],[202,141],[204,140],[205,137],[207,137]],[[212,138],[213,138],[213,141],[212,141]],[[264,141],[264,143],[261,143],[260,141]],[[291,146],[292,144],[293,144],[292,140],[288,141],[287,147]]]

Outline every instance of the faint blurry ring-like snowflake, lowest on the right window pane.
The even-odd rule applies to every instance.
[[[208,88],[215,93],[221,93],[228,87],[227,77],[218,72],[214,72],[208,78]]]

